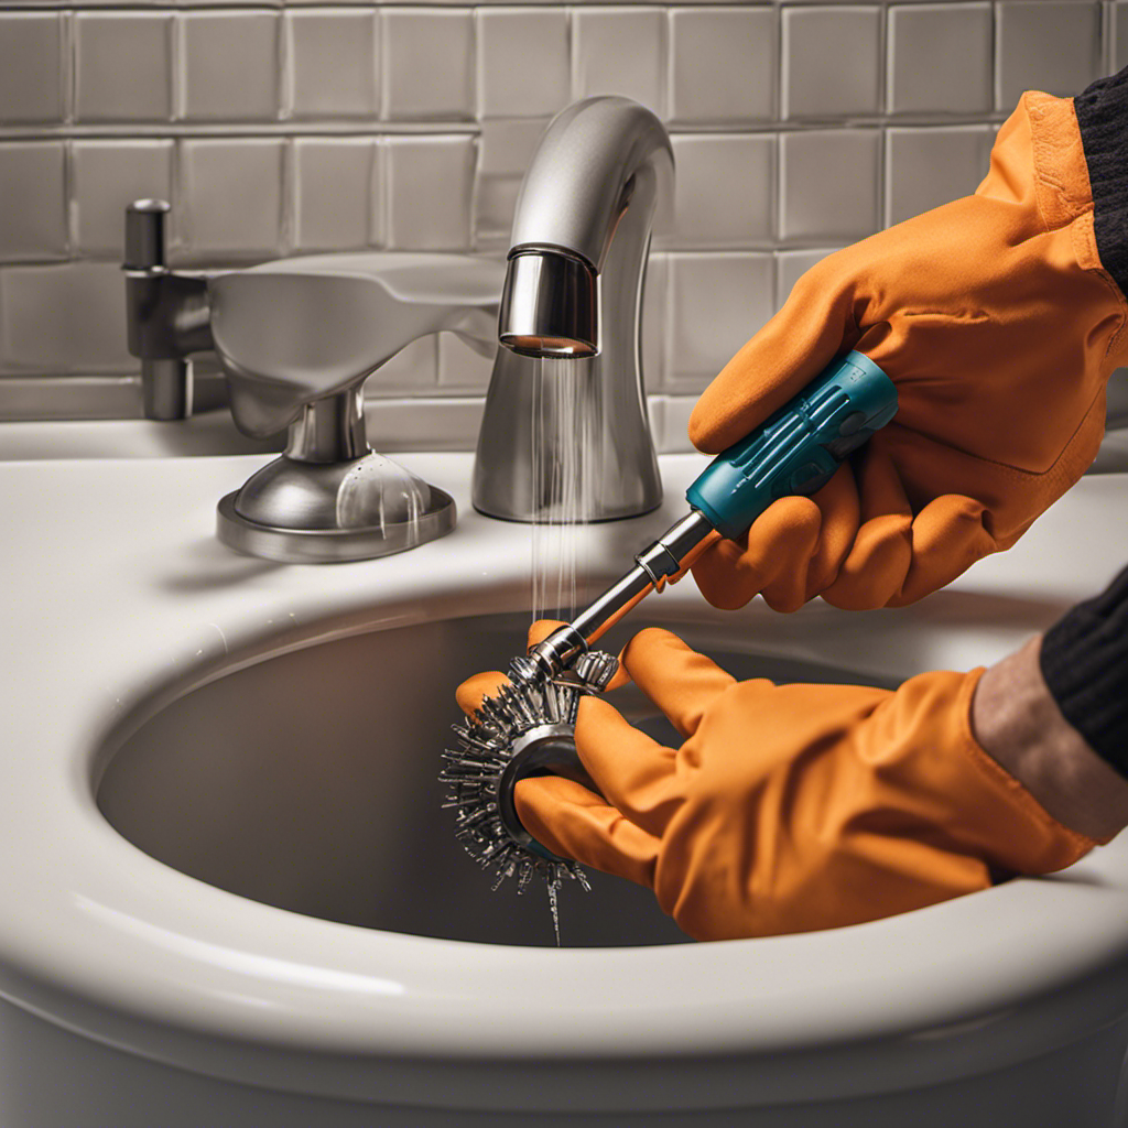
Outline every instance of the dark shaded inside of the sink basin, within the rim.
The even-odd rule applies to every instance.
[[[116,749],[98,805],[152,857],[276,908],[444,940],[553,944],[543,891],[534,884],[518,896],[506,882],[491,893],[492,879],[455,839],[435,778],[458,717],[452,688],[477,670],[504,669],[527,626],[527,615],[422,623],[220,677]],[[738,678],[853,677],[757,656],[731,633],[719,641],[717,627],[678,631]],[[619,635],[609,645],[625,642],[625,626]],[[680,742],[634,687],[615,699],[656,739]],[[590,895],[565,885],[566,946],[687,940],[649,890],[599,873],[591,880]]]

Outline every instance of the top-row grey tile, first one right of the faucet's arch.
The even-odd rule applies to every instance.
[[[777,38],[770,7],[671,8],[671,118],[724,124],[770,120]]]

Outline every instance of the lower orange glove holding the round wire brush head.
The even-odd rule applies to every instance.
[[[554,626],[535,624],[530,644]],[[653,889],[697,940],[890,916],[1063,869],[1095,845],[976,742],[981,670],[924,673],[896,693],[738,682],[654,628],[622,661],[613,688],[633,678],[685,742],[664,748],[588,697],[576,747],[602,795],[522,779],[518,817],[555,853]],[[459,704],[472,712],[503,681],[472,678]]]

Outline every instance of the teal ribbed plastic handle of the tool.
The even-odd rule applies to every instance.
[[[897,414],[897,388],[858,352],[839,356],[686,491],[713,528],[735,539],[779,497],[812,494]]]

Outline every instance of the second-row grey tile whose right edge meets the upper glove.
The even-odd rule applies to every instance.
[[[987,175],[994,132],[985,125],[890,130],[885,226],[970,195]]]

